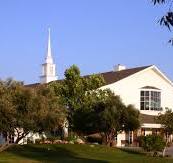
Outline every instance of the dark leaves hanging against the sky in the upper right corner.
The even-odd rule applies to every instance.
[[[159,20],[160,25],[166,26],[170,31],[173,27],[173,11],[172,11],[172,4],[173,0],[152,0],[153,4],[167,4],[168,11],[161,17]],[[169,41],[173,45],[173,38],[171,38]]]

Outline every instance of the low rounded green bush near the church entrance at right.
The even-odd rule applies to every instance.
[[[147,152],[162,151],[165,147],[165,141],[158,135],[147,135],[139,138],[141,147]]]

